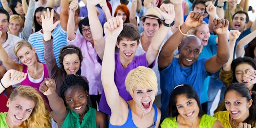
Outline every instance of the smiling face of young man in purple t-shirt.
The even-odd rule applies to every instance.
[[[137,40],[128,41],[127,39],[120,40],[119,45],[117,47],[119,50],[119,59],[120,61],[129,61],[131,62],[133,57],[135,56],[136,49],[138,47]]]

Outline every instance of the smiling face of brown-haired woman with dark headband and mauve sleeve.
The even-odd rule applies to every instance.
[[[64,70],[67,74],[74,74],[76,75],[76,72],[80,68],[80,60],[76,53],[73,54],[67,54],[63,58],[63,66]]]

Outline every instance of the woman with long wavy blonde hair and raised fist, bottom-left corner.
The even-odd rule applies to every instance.
[[[8,70],[0,80],[0,93],[11,85],[20,83],[27,74]],[[16,87],[6,104],[8,112],[0,113],[0,128],[51,128],[50,112],[35,88]]]

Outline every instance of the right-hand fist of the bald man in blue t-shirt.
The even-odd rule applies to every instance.
[[[217,35],[225,34],[228,32],[229,21],[226,19],[214,19],[213,20],[213,31]]]

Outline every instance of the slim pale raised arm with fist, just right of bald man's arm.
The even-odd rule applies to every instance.
[[[229,59],[228,62],[223,64],[222,69],[224,71],[230,71],[231,70],[231,63],[233,61],[233,55],[234,55],[234,47],[235,47],[235,41],[239,37],[241,33],[238,30],[230,30],[229,35]]]

